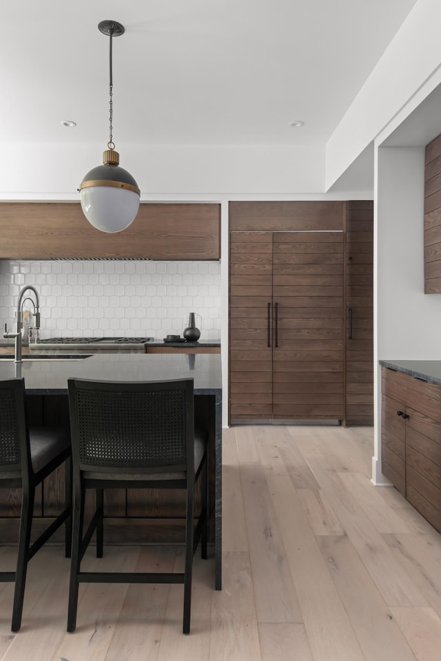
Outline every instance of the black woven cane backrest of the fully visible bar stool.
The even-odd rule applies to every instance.
[[[76,381],[72,397],[74,461],[81,470],[185,470],[193,426],[192,379],[160,384]]]

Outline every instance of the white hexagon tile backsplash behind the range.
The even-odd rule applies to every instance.
[[[19,291],[40,296],[40,337],[182,334],[196,313],[201,340],[220,340],[220,264],[75,260],[0,261],[0,321],[12,330]],[[32,305],[24,309],[32,312]]]

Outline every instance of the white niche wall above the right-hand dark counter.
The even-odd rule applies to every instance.
[[[424,147],[378,149],[378,359],[441,359],[441,295],[424,294]]]

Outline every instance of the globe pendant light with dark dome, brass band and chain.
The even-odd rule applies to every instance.
[[[112,136],[112,39],[123,34],[124,27],[116,21],[101,21],[98,29],[110,37],[110,139],[103,152],[103,165],[86,174],[79,191],[81,209],[90,224],[102,232],[112,233],[126,229],[133,222],[141,191],[132,175],[119,167],[119,154]]]

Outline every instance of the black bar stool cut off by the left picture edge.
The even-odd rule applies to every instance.
[[[65,509],[32,545],[30,535],[35,489],[65,464]],[[12,631],[21,627],[28,562],[65,523],[65,556],[72,541],[72,472],[69,428],[29,427],[24,379],[0,381],[0,488],[21,488],[21,516],[16,571],[1,571],[1,582],[14,582]]]

